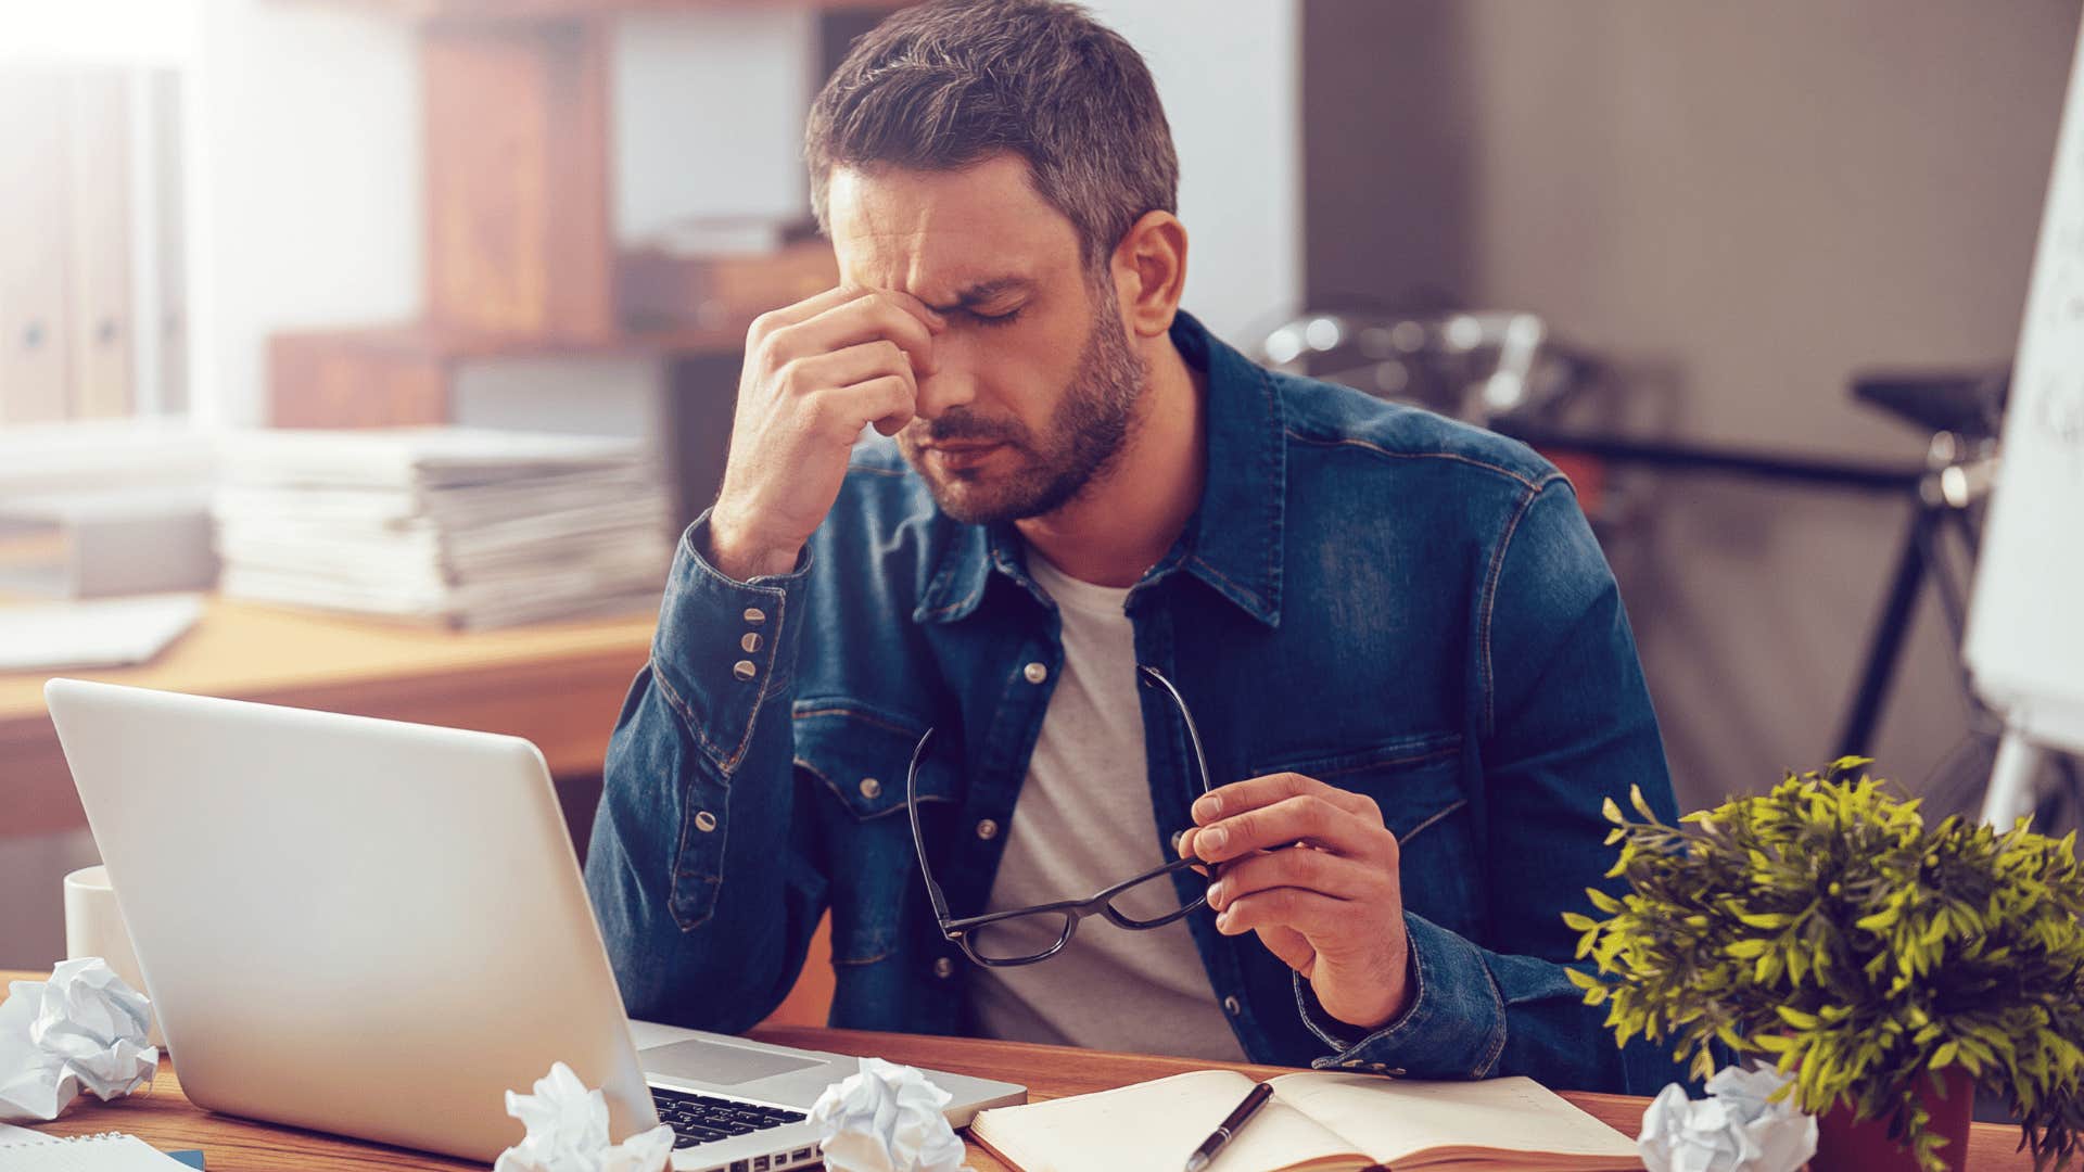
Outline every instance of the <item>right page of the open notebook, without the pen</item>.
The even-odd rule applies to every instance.
[[[1484,1147],[1634,1162],[1636,1141],[1532,1078],[1411,1082],[1307,1072],[1273,1078],[1282,1101],[1382,1164],[1434,1147]]]

